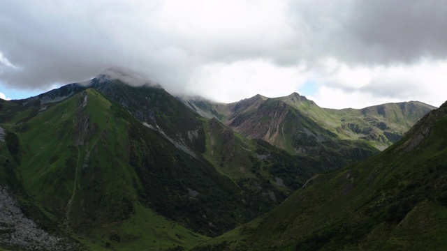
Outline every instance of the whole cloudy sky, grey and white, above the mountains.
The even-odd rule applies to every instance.
[[[0,98],[108,68],[175,95],[447,100],[447,1],[0,0]]]

